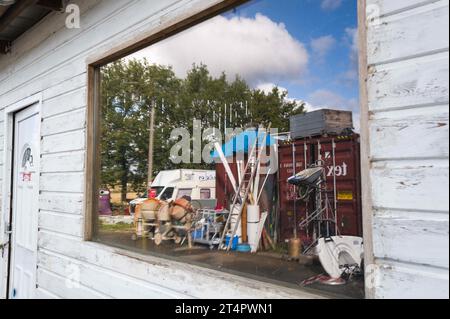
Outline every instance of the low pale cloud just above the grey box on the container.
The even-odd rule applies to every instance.
[[[347,99],[328,90],[317,90],[308,96],[308,104],[313,110],[335,109],[353,112],[353,125],[358,132],[360,129],[359,101],[356,98]],[[308,110],[309,111],[309,110]]]

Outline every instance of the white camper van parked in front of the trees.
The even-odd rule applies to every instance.
[[[130,213],[133,215],[136,206],[149,198],[170,202],[182,197],[189,197],[200,208],[214,209],[217,204],[216,172],[193,169],[162,171],[143,196],[130,202]]]

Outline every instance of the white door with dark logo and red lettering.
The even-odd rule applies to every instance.
[[[38,105],[14,119],[12,245],[9,296],[34,297],[39,203],[40,114]]]

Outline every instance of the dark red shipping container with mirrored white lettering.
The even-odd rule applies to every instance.
[[[333,142],[336,144],[335,165]],[[295,151],[294,151],[295,149]],[[295,155],[294,155],[295,154]],[[327,189],[334,205],[334,173],[336,174],[337,226],[341,235],[362,236],[360,144],[357,134],[337,137],[314,137],[285,143],[279,147],[279,207],[281,240],[293,237],[294,225],[304,241],[310,240],[310,229],[299,223],[314,210],[299,199],[289,177],[317,161],[326,166]],[[293,169],[295,162],[295,170]],[[296,214],[294,213],[296,212]]]

